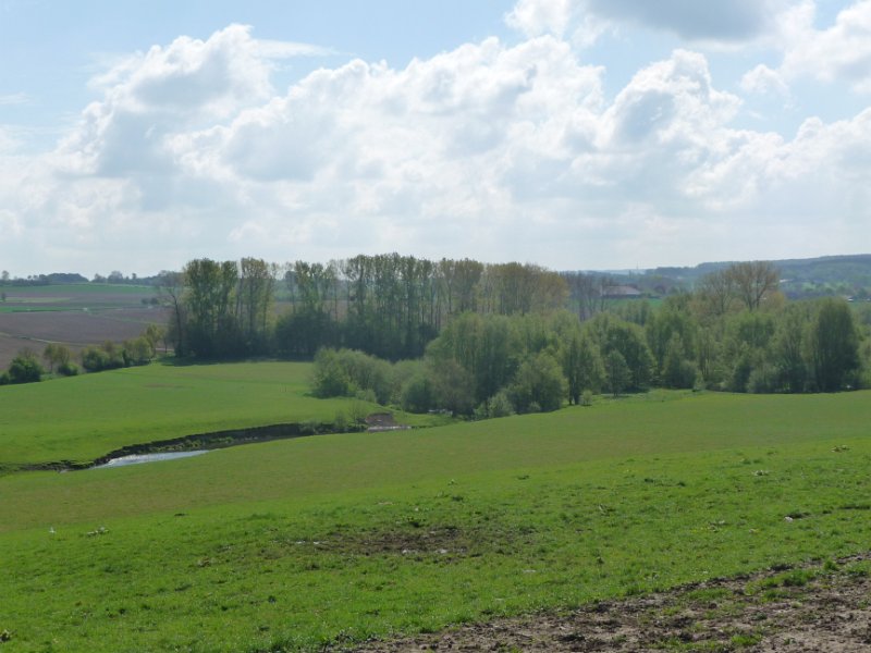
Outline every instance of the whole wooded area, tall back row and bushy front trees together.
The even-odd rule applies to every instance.
[[[651,386],[871,384],[871,310],[842,298],[789,301],[771,263],[715,270],[657,307],[610,300],[610,288],[603,275],[392,254],[283,271],[198,259],[164,274],[161,293],[179,356],[321,352],[317,393],[364,393],[409,410],[526,412]],[[290,308],[277,315],[279,289]]]

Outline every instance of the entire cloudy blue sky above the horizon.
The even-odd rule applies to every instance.
[[[871,251],[871,0],[0,0],[0,269]]]

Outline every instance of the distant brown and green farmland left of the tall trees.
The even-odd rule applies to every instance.
[[[148,286],[71,284],[5,287],[4,292],[0,370],[25,347],[41,354],[46,344],[60,343],[77,356],[87,345],[120,343],[168,319],[164,308],[150,305],[156,291]]]

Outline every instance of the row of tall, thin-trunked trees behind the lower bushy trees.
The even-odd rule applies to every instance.
[[[284,267],[197,259],[160,280],[176,354],[200,358],[310,359],[322,347],[416,358],[455,316],[550,311],[569,298],[565,279],[539,266],[397,254]]]

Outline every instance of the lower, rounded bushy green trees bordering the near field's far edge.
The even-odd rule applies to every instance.
[[[719,317],[706,313],[704,303],[700,294],[682,295],[659,309],[627,305],[585,322],[566,310],[466,312],[419,359],[390,364],[363,352],[321,349],[312,389],[321,397],[358,396],[413,412],[498,417],[653,386],[751,393],[871,386],[867,328],[846,301]]]

